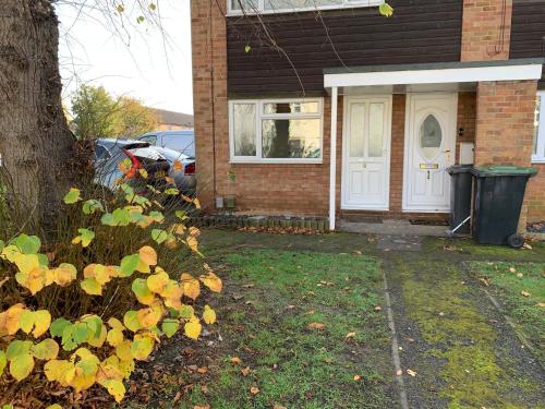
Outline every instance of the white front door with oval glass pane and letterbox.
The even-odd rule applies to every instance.
[[[403,210],[449,212],[455,163],[457,94],[409,94]]]

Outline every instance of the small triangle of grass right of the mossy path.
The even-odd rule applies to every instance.
[[[545,263],[473,262],[470,267],[545,364]]]

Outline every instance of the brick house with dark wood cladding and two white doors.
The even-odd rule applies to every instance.
[[[440,219],[446,168],[511,164],[545,219],[544,0],[379,2],[192,2],[204,207],[231,170],[247,213]]]

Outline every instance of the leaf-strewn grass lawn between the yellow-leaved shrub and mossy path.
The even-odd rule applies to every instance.
[[[195,362],[192,353],[185,356],[178,378],[164,382],[158,375],[154,382],[164,387],[153,386],[156,396],[130,407],[396,406],[389,329],[384,312],[375,311],[383,305],[376,258],[360,252],[230,249],[211,252],[209,260],[225,281],[223,293],[209,300],[219,324],[204,340],[215,341],[195,342]],[[168,366],[172,356],[160,353],[154,364]],[[180,389],[186,393],[177,400]]]

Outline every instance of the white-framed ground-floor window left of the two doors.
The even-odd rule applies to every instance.
[[[322,99],[229,103],[231,161],[322,163]]]

